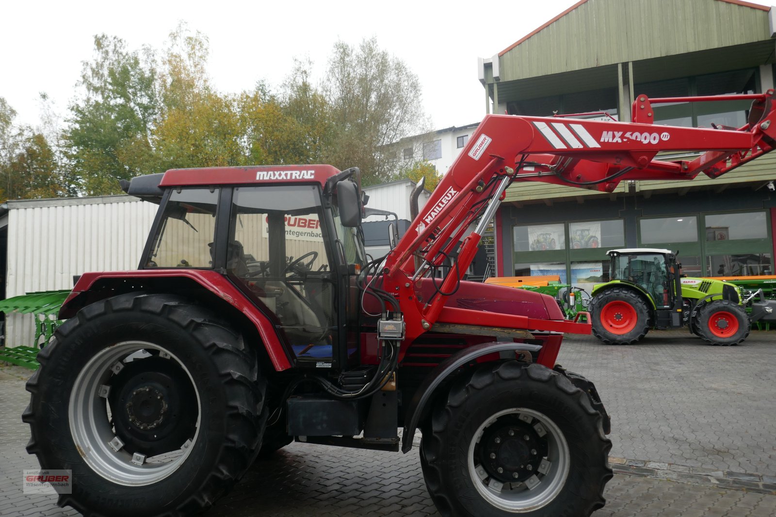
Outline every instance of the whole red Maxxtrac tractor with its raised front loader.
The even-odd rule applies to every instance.
[[[357,169],[125,181],[158,215],[137,271],[84,274],[62,305],[68,321],[27,383],[27,450],[72,471],[60,505],[189,515],[292,440],[407,453],[421,429],[443,515],[590,515],[611,478],[609,417],[556,357],[563,333],[591,327],[549,296],[461,278],[514,181],[612,191],[770,151],[773,92],[732,98],[753,99],[736,131],[653,127],[644,96],[632,123],[488,115],[371,261]],[[703,153],[653,159],[665,150]]]

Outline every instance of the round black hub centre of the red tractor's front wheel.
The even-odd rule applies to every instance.
[[[502,483],[525,481],[536,474],[546,450],[546,440],[517,416],[500,419],[480,440],[483,468]]]

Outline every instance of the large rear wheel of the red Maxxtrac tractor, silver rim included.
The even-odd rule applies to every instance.
[[[72,471],[58,504],[84,515],[190,515],[248,469],[266,381],[239,333],[175,295],[81,309],[27,382],[27,452]]]

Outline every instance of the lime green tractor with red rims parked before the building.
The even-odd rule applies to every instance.
[[[636,248],[610,250],[609,281],[593,288],[593,333],[607,344],[636,343],[650,329],[688,326],[714,345],[737,345],[753,322],[776,321],[776,300],[728,281],[681,275],[677,253]],[[747,312],[747,306],[750,311]]]

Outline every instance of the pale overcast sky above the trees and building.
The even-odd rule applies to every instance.
[[[66,115],[93,36],[106,33],[161,49],[183,20],[210,39],[210,76],[236,93],[265,79],[280,84],[293,57],[310,57],[323,78],[337,40],[379,46],[420,78],[423,105],[436,129],[478,122],[485,112],[477,57],[493,54],[573,5],[575,0],[488,2],[4,2],[0,29],[0,97],[16,122],[36,125],[38,92]],[[760,2],[764,3],[764,2]],[[612,28],[614,30],[615,28]]]

